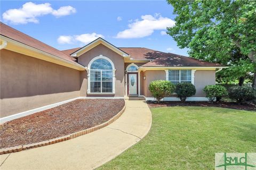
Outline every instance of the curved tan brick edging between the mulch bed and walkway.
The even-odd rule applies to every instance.
[[[119,118],[124,113],[125,107],[126,107],[126,104],[124,104],[124,107],[122,108],[122,110],[120,112],[118,112],[114,117],[110,118],[110,120],[108,120],[107,122],[102,123],[100,125],[97,125],[97,126],[94,126],[92,128],[85,129],[85,130],[82,130],[82,131],[78,131],[78,132],[75,132],[75,133],[71,133],[71,134],[68,134],[68,135],[65,135],[65,136],[59,137],[59,138],[54,138],[54,139],[50,139],[50,140],[46,140],[46,141],[42,141],[42,142],[31,143],[31,144],[28,144],[28,145],[19,145],[19,146],[10,147],[10,148],[3,148],[3,149],[0,149],[0,155],[9,154],[9,153],[12,153],[12,152],[19,152],[19,151],[27,150],[27,149],[31,149],[31,148],[37,148],[37,147],[52,145],[54,143],[58,143],[58,142],[62,142],[62,141],[65,141],[65,140],[73,139],[73,138],[79,137],[81,135],[97,131],[97,130],[99,130],[101,128],[104,128],[105,126],[113,123],[114,121],[116,121],[117,118]]]

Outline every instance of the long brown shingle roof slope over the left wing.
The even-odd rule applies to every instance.
[[[19,41],[20,43],[26,44],[30,47],[42,50],[43,52],[49,53],[51,55],[60,57],[71,63],[76,63],[73,57],[70,57],[65,53],[62,53],[60,50],[53,48],[47,44],[44,44],[41,41],[26,35],[25,33],[15,30],[14,28],[9,27],[8,25],[2,22],[0,22],[0,35],[13,39],[15,41]]]

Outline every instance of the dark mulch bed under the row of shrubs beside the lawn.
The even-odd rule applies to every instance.
[[[154,107],[166,107],[166,106],[203,106],[203,107],[223,107],[223,108],[234,108],[245,111],[256,111],[256,106],[254,104],[243,104],[239,105],[234,102],[228,101],[218,101],[210,103],[209,101],[186,101],[181,103],[180,101],[162,101],[161,103],[156,103],[156,101],[147,101],[149,108]]]

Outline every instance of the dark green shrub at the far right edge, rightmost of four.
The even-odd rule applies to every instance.
[[[256,91],[252,87],[246,86],[231,87],[228,96],[231,99],[236,99],[238,103],[243,103],[255,99]]]

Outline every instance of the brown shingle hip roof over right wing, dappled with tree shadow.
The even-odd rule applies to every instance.
[[[181,56],[172,53],[166,53],[165,55],[157,58],[154,61],[148,62],[141,67],[182,67],[182,66],[223,66],[218,63],[205,62],[196,60],[186,56]]]

